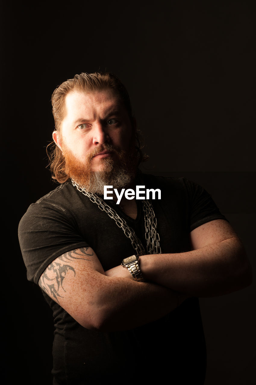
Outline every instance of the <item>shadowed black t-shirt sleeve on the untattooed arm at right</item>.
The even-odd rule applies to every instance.
[[[199,184],[184,179],[188,191],[190,231],[215,219],[224,219],[211,195]]]

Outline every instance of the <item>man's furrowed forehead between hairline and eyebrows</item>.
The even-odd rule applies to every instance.
[[[96,116],[104,118],[112,110],[125,110],[119,95],[113,90],[94,92],[70,92],[65,98],[66,116],[64,119],[77,118],[77,115],[93,119]]]

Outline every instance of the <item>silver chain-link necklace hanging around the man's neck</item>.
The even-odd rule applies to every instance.
[[[145,249],[140,239],[136,236],[134,230],[128,226],[126,221],[122,219],[116,211],[108,206],[103,199],[101,199],[96,194],[87,191],[83,187],[80,187],[76,182],[72,179],[72,184],[77,188],[78,191],[82,192],[85,196],[87,196],[91,202],[96,203],[98,208],[101,211],[105,211],[108,216],[115,220],[118,227],[120,227],[125,233],[126,237],[131,240],[131,244],[136,251],[138,256],[145,255]],[[148,254],[161,254],[161,248],[159,244],[159,234],[157,233],[157,218],[155,217],[154,210],[149,201],[142,200],[143,204],[143,212],[145,219],[145,238],[147,241],[147,253]]]

